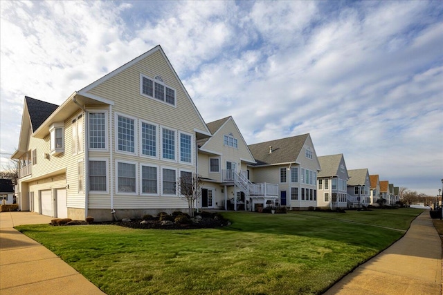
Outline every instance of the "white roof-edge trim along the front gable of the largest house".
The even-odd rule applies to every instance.
[[[96,82],[93,82],[93,83],[89,84],[88,86],[82,88],[80,91],[78,91],[78,94],[82,95],[84,97],[90,97],[90,98],[93,98],[93,99],[104,99],[104,100],[106,100],[104,97],[99,97],[98,95],[93,95],[92,93],[89,93],[89,91],[91,91],[93,88],[96,88],[96,87],[100,86],[100,84],[103,84],[103,83],[107,82],[107,80],[111,79],[112,77],[115,77],[116,75],[118,75],[119,73],[122,73],[127,68],[129,68],[131,66],[134,66],[139,61],[142,61],[146,57],[149,57],[150,55],[153,55],[156,52],[161,53],[161,55],[163,56],[163,59],[165,60],[166,64],[168,64],[168,67],[170,68],[170,70],[172,72],[172,75],[174,75],[175,79],[177,79],[177,82],[179,83],[179,86],[180,86],[181,90],[183,91],[183,93],[185,93],[186,98],[189,100],[190,104],[192,105],[192,108],[194,108],[195,113],[199,117],[199,121],[201,122],[201,129],[196,129],[195,132],[200,133],[202,135],[202,137],[210,136],[211,133],[208,130],[208,127],[206,126],[206,123],[204,122],[203,117],[201,117],[200,112],[198,111],[198,109],[195,106],[194,102],[192,102],[192,99],[191,99],[188,91],[186,91],[185,86],[183,86],[183,83],[181,82],[181,79],[179,78],[179,76],[177,75],[176,71],[172,67],[172,64],[170,63],[168,57],[166,57],[166,55],[165,55],[165,53],[163,51],[163,48],[161,48],[160,45],[157,45],[156,47],[152,48],[151,50],[147,51],[146,53],[143,53],[143,55],[140,55],[140,56],[136,57],[135,59],[132,59],[132,61],[127,62],[126,64],[124,64],[123,66],[120,66],[116,70],[113,70],[111,73],[108,73],[107,75],[105,75],[105,76],[101,77],[100,79],[96,80]],[[197,138],[197,139],[199,139],[199,138]]]

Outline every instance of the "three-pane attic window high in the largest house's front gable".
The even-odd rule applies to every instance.
[[[157,75],[154,79],[151,79],[150,77],[141,75],[140,79],[141,95],[158,99],[165,104],[175,106],[176,92],[174,88],[171,88],[163,82],[162,77]]]

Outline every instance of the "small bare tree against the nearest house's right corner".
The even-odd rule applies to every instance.
[[[178,189],[179,195],[183,200],[188,202],[189,215],[194,216],[194,208],[197,200],[201,197],[201,186],[203,182],[199,175],[192,172],[181,171]]]

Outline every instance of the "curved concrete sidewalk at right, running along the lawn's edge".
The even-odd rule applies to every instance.
[[[341,294],[442,294],[442,241],[429,211],[405,236],[363,263],[325,292]]]

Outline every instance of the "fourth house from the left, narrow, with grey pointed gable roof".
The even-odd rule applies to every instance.
[[[318,207],[347,207],[347,174],[343,153],[318,157],[321,171],[318,173]]]

